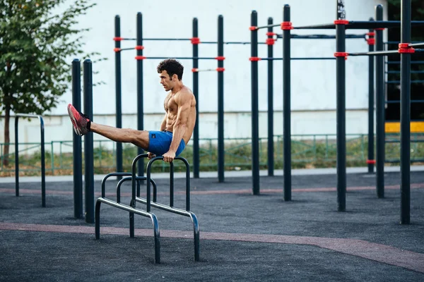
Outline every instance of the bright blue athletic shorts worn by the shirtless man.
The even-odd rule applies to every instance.
[[[170,150],[172,142],[172,132],[170,131],[149,131],[148,132],[148,152],[156,156],[162,156]],[[175,157],[177,157],[185,148],[184,140],[179,142]]]

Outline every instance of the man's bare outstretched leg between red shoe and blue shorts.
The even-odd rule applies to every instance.
[[[145,150],[148,149],[148,131],[129,128],[114,128],[91,122],[90,130],[110,140],[122,143],[132,143]]]

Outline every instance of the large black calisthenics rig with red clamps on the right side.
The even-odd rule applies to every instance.
[[[293,29],[326,29],[336,30],[336,120],[337,120],[337,204],[338,211],[346,210],[346,59],[348,56],[377,56],[376,59],[376,116],[377,116],[377,196],[384,197],[384,61],[382,56],[400,54],[401,56],[401,223],[410,223],[410,121],[411,121],[411,54],[423,52],[424,49],[414,47],[424,46],[424,43],[411,44],[411,25],[423,25],[424,21],[411,21],[411,0],[402,0],[401,21],[382,20],[382,6],[376,6],[375,21],[346,20],[344,1],[338,0],[337,20],[331,24],[309,25],[295,27],[290,22],[290,6],[283,8],[283,23],[278,25],[257,26],[257,12],[252,11],[252,116],[257,114],[258,95],[258,61],[257,30],[281,26],[283,30],[283,101],[284,101],[284,197],[291,200],[291,152],[290,152],[290,30]],[[383,50],[382,30],[401,25],[401,43],[399,49]],[[361,53],[346,52],[346,29],[375,30],[376,51]],[[259,130],[252,121],[252,168],[259,168]],[[255,149],[256,148],[256,149]],[[374,161],[369,159],[370,164]],[[259,194],[259,170],[252,169],[253,192]]]

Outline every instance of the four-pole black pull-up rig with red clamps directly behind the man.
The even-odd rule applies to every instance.
[[[196,97],[196,125],[193,132],[193,174],[194,178],[199,178],[199,73],[204,71],[217,71],[218,72],[218,180],[224,181],[224,45],[225,44],[250,44],[250,42],[224,42],[223,35],[223,16],[218,16],[218,39],[217,41],[201,41],[199,38],[198,20],[193,19],[193,37],[191,38],[144,38],[143,37],[143,18],[141,13],[137,13],[137,36],[136,38],[121,37],[120,18],[115,16],[115,75],[116,75],[116,124],[117,128],[122,127],[122,94],[121,94],[121,53],[122,51],[136,49],[137,61],[137,129],[143,130],[143,60],[146,59],[168,59],[174,58],[179,60],[192,60],[193,68],[193,87],[192,91]],[[121,48],[121,41],[136,41],[136,47]],[[182,41],[190,42],[193,45],[192,56],[143,56],[144,41]],[[199,44],[217,44],[218,54],[215,57],[199,57]],[[266,44],[263,42],[261,44]],[[216,60],[218,61],[217,68],[201,69],[199,68],[199,60]],[[142,154],[143,149],[139,148],[138,154]],[[143,159],[141,159],[143,161]],[[139,166],[139,175],[143,176],[143,166]],[[122,168],[122,144],[117,143],[117,171],[123,171]]]

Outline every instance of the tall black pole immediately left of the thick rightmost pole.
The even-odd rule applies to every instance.
[[[375,7],[375,20],[383,20],[383,6]],[[375,30],[375,51],[383,51],[383,30]],[[384,197],[384,57],[375,57],[375,142],[377,197]]]

